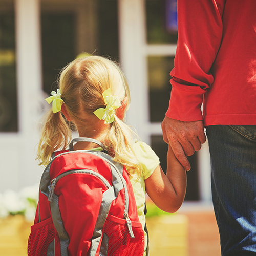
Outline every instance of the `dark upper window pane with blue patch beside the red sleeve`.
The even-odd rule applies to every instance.
[[[148,44],[177,44],[178,33],[173,29],[175,4],[173,0],[146,0]]]

